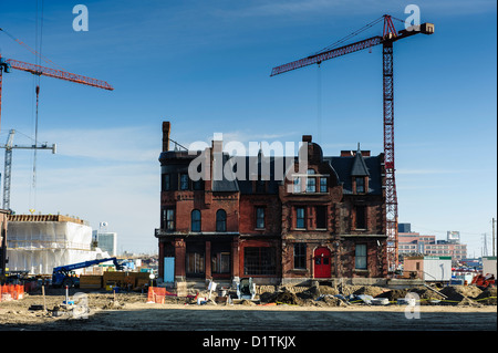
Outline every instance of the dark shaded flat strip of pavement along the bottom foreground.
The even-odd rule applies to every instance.
[[[407,319],[404,310],[372,308],[338,310],[144,309],[100,312],[84,320],[48,324],[44,330],[129,331],[496,331],[492,312],[419,312]]]

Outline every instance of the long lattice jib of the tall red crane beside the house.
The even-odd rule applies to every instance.
[[[332,50],[329,50],[323,53],[303,58],[301,60],[297,60],[297,61],[273,68],[270,76],[274,76],[280,73],[284,73],[284,72],[288,72],[291,70],[303,68],[303,66],[319,64],[325,60],[330,60],[330,59],[338,58],[338,56],[349,54],[352,52],[356,52],[356,51],[360,51],[360,50],[363,50],[366,48],[378,45],[382,43],[382,40],[383,40],[382,37],[373,37],[373,38],[369,38],[369,39],[360,41],[360,42],[355,42],[355,43],[347,44],[347,45],[344,45],[341,48],[332,49]]]

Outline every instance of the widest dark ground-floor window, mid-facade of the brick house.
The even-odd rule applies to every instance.
[[[243,274],[276,274],[277,249],[271,247],[243,248]]]

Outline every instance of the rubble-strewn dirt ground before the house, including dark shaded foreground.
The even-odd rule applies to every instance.
[[[323,285],[278,290],[261,287],[253,301],[232,300],[230,303],[226,298],[212,294],[211,300],[200,305],[191,297],[167,295],[164,303],[151,303],[146,293],[79,289],[69,292],[69,299],[74,303],[64,305],[65,291],[48,289],[44,298],[38,291],[24,294],[21,300],[0,302],[0,331],[497,329],[496,288],[483,291],[476,287],[449,285],[438,292],[426,288],[409,291],[418,294],[419,305],[408,308],[396,303],[397,299],[405,298],[407,289],[378,287]],[[198,294],[207,297],[208,292]],[[390,304],[367,303],[361,299],[365,298],[362,294],[387,298]]]

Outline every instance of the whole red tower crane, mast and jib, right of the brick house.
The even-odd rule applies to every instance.
[[[386,235],[387,235],[387,264],[388,270],[394,271],[398,264],[397,257],[397,195],[394,177],[394,98],[393,98],[393,44],[394,42],[412,37],[414,34],[433,34],[434,24],[423,23],[413,25],[402,31],[396,31],[393,19],[388,14],[369,23],[364,28],[384,20],[382,37],[372,37],[352,44],[340,48],[325,49],[321,52],[297,60],[277,68],[273,68],[270,76],[274,76],[288,71],[304,68],[363,49],[382,44],[383,60],[383,93],[384,93],[384,163],[385,163],[385,203],[386,203]],[[359,31],[357,31],[359,32]],[[356,34],[356,33],[353,33]],[[341,42],[341,41],[340,41]]]

